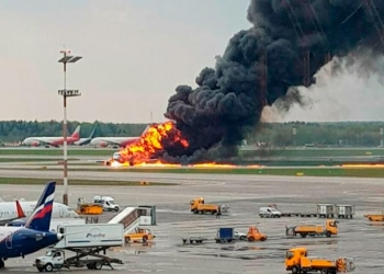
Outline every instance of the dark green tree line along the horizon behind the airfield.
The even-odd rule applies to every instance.
[[[81,125],[81,137],[88,137],[97,127],[98,136],[139,136],[147,124],[80,123],[68,122],[68,133]],[[381,145],[384,122],[340,122],[340,123],[260,123],[249,128],[246,136],[248,145],[268,146],[364,146]],[[382,129],[383,130],[383,129]],[[26,122],[0,121],[0,140],[22,141],[29,136],[63,136],[63,124],[57,121]]]

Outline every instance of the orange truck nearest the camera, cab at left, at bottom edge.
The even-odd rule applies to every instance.
[[[321,274],[336,274],[352,272],[353,259],[339,258],[337,260],[308,258],[306,248],[293,248],[286,251],[285,270],[295,273],[308,273],[319,271]]]

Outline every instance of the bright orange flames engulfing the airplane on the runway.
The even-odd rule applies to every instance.
[[[188,140],[176,127],[172,121],[162,124],[154,124],[140,138],[118,152],[120,159],[111,161],[112,167],[137,165],[143,163],[161,163],[158,159],[167,151],[167,148],[181,146],[188,148]]]

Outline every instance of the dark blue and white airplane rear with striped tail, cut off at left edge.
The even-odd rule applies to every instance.
[[[56,182],[50,182],[39,197],[25,227],[0,227],[0,269],[8,258],[24,258],[60,241],[64,235],[49,232]]]

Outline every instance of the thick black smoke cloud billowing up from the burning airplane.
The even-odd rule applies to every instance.
[[[253,26],[234,35],[215,69],[204,68],[197,76],[197,88],[179,85],[169,99],[165,115],[177,122],[190,147],[167,148],[165,158],[199,161],[212,158],[210,150],[217,146],[224,155],[234,153],[266,104],[287,99],[284,107],[289,107],[301,101],[298,93],[286,95],[287,91],[315,83],[314,75],[329,61],[327,54],[341,59],[364,56],[368,62],[382,56],[371,11],[383,19],[384,0],[366,2],[376,10],[368,9],[363,0],[252,0],[248,20]],[[309,81],[304,79],[307,53]]]

